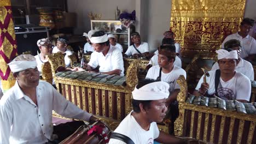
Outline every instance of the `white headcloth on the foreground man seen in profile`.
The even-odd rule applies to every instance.
[[[169,85],[166,82],[152,82],[139,89],[135,87],[132,97],[135,100],[159,100],[167,99],[169,96]]]

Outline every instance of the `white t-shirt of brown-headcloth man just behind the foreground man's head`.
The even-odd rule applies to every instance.
[[[146,79],[154,79],[156,80],[159,76],[160,67],[159,65],[155,65],[148,70]],[[187,77],[186,71],[176,65],[173,65],[173,69],[170,73],[163,73],[161,71],[161,81],[167,82],[170,85],[169,91],[172,92],[174,89],[181,89],[177,83],[177,79],[179,75],[184,75]]]

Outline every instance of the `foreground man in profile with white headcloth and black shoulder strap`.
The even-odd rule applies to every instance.
[[[147,79],[140,81],[132,92],[133,110],[114,130],[109,144],[154,143],[154,141],[179,143],[176,137],[159,131],[156,124],[165,118],[168,89],[169,85],[166,82],[153,82]]]

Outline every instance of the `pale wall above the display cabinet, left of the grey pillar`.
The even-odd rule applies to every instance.
[[[83,34],[91,29],[88,13],[100,13],[101,20],[115,20],[115,9],[131,13],[136,0],[67,0],[68,12],[77,13],[75,34]]]

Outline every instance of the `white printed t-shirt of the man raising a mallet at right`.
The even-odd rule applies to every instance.
[[[215,74],[216,70],[208,71],[210,77],[206,77],[206,82],[209,84],[208,94],[212,95],[215,93]],[[196,86],[196,90],[199,90],[201,84],[203,83],[203,76],[199,80]],[[235,100],[243,99],[250,100],[251,97],[251,81],[247,76],[236,72],[235,76],[232,77],[229,81],[223,81],[222,78],[219,78],[218,86],[218,97],[222,99]]]

